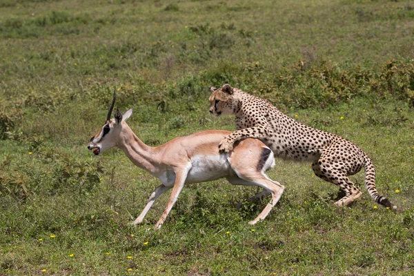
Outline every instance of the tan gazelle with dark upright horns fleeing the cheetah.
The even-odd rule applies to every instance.
[[[232,152],[220,154],[219,142],[230,132],[206,130],[186,137],[177,137],[162,146],[152,148],[144,144],[126,124],[126,120],[132,115],[132,108],[124,115],[117,109],[114,119],[111,119],[115,99],[116,90],[105,124],[97,135],[90,139],[88,149],[99,155],[115,146],[121,148],[132,163],[161,181],[161,185],[155,188],[144,210],[133,224],[141,224],[157,197],[172,188],[166,210],[155,224],[155,229],[161,228],[184,184],[223,177],[231,184],[263,188],[261,193],[250,197],[249,200],[271,193],[270,203],[249,224],[264,219],[279,201],[284,186],[267,177],[265,173],[275,165],[273,152],[258,139],[245,139],[240,141]]]

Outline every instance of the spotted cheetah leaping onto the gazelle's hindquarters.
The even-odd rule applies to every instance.
[[[249,95],[231,87],[211,87],[210,110],[214,116],[235,115],[237,130],[219,144],[220,152],[230,152],[242,139],[257,138],[266,144],[277,157],[297,161],[312,161],[315,175],[331,182],[344,191],[345,196],[335,202],[346,206],[362,195],[348,179],[362,167],[369,195],[386,208],[397,209],[375,188],[375,169],[366,153],[351,141],[338,135],[318,130],[288,117],[266,99]]]

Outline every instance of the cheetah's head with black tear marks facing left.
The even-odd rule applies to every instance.
[[[233,97],[233,87],[226,83],[221,88],[210,87],[211,95],[210,114],[214,116],[231,115],[235,112],[235,99]]]

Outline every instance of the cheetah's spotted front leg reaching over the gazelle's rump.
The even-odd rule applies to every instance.
[[[233,150],[235,142],[246,138],[264,139],[273,135],[273,130],[266,126],[255,126],[253,128],[244,128],[236,130],[221,140],[219,144],[219,152],[230,152]]]

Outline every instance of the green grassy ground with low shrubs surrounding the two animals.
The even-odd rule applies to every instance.
[[[410,1],[1,1],[0,275],[411,275],[414,6]],[[335,208],[310,164],[277,160],[266,220],[255,188],[186,187],[166,223],[158,182],[119,150],[86,150],[113,88],[147,144],[205,129],[229,82],[354,141],[377,188]],[[246,201],[242,210],[235,204]]]

